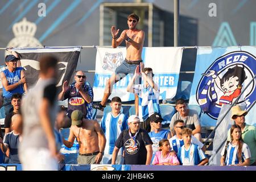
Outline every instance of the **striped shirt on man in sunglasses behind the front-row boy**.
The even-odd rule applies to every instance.
[[[183,139],[177,138],[176,135],[170,138],[169,142],[172,150],[174,150],[176,153],[178,152],[179,148],[184,145]],[[194,137],[193,135],[191,135],[191,143],[197,144],[199,148],[202,148],[204,146],[204,144],[197,140],[196,137]]]

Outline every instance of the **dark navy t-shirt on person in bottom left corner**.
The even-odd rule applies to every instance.
[[[19,146],[19,134],[15,135],[13,131],[7,133],[3,138],[3,143],[10,148],[9,164],[19,164],[18,146]]]

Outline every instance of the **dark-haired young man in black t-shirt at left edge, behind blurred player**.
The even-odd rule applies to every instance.
[[[13,129],[11,128],[11,117],[15,114],[20,113],[20,103],[22,100],[22,94],[15,93],[11,96],[11,105],[13,106],[13,111],[5,116],[5,134],[10,133]]]

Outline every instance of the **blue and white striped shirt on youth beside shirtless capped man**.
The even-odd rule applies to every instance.
[[[128,129],[127,117],[123,113],[119,113],[117,117],[114,117],[112,112],[104,114],[101,119],[101,128],[106,137],[106,147],[104,153],[112,155],[115,147],[115,141],[123,130]],[[121,152],[122,151],[119,150],[119,153]]]

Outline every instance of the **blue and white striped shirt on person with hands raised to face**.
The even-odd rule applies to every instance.
[[[143,84],[134,85],[134,93],[139,94],[139,118],[146,121],[150,115],[154,113],[160,114],[159,107],[159,86],[155,83],[158,90],[148,85],[147,88]]]

